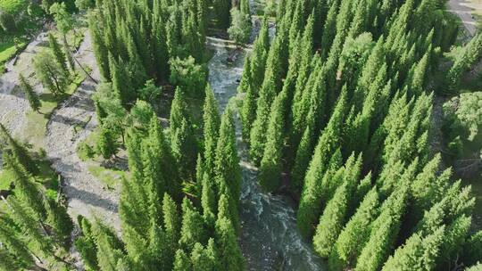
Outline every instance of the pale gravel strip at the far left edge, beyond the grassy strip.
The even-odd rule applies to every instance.
[[[25,113],[29,111],[29,103],[16,87],[19,84],[19,75],[23,74],[25,78],[29,78],[33,74],[33,57],[45,48],[46,43],[46,32],[42,32],[17,57],[15,65],[12,62],[7,65],[9,70],[0,78],[0,123],[14,136],[21,136],[27,122]],[[43,91],[42,86],[38,84],[34,88],[37,93]]]

